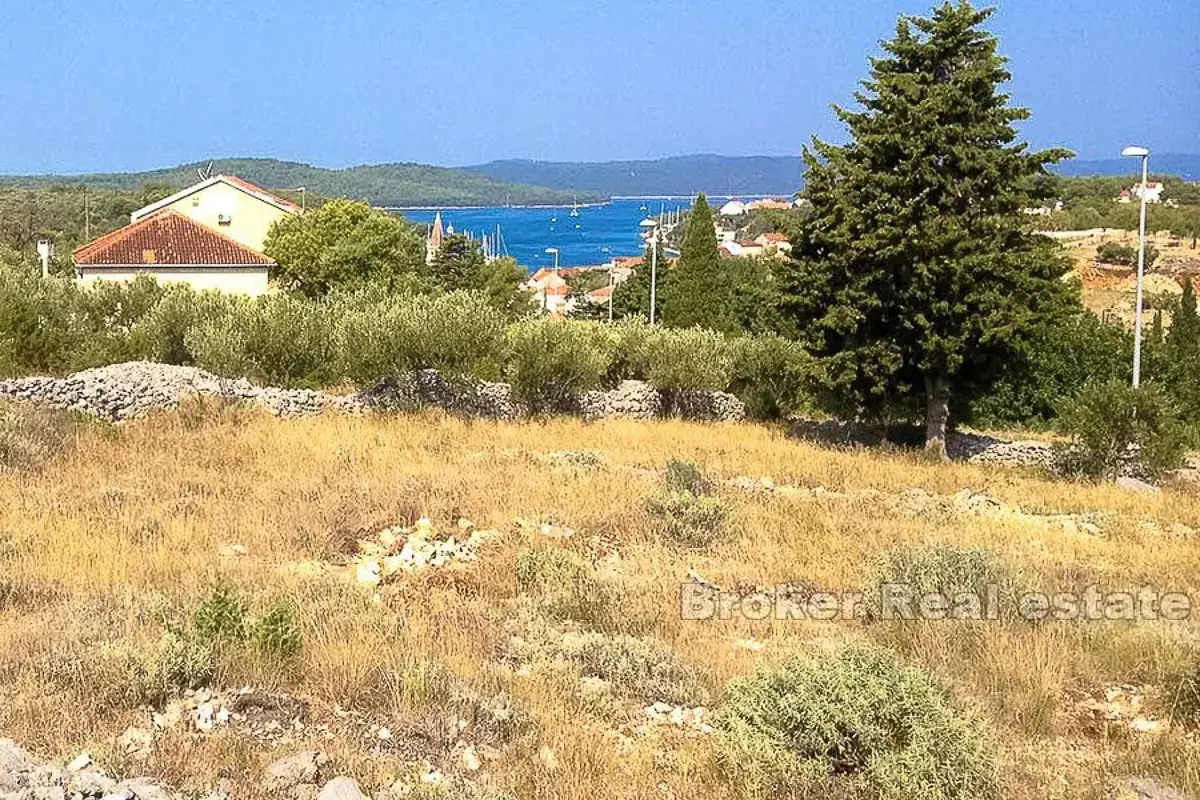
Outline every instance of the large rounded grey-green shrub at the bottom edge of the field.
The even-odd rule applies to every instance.
[[[718,758],[751,796],[983,800],[998,792],[982,723],[886,651],[799,656],[731,682]]]

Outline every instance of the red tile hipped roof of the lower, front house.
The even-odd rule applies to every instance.
[[[74,261],[83,266],[275,264],[257,249],[170,210],[138,219],[84,245],[74,252]]]

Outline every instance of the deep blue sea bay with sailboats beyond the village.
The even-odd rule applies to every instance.
[[[553,265],[554,255],[546,252],[547,247],[558,248],[559,266],[590,266],[605,264],[613,255],[641,255],[644,246],[638,223],[690,205],[684,198],[612,200],[581,205],[577,217],[570,216],[570,206],[391,210],[421,224],[433,222],[434,212],[440,211],[444,225],[454,225],[455,233],[469,231],[476,239],[493,235],[499,225],[508,254],[532,272]]]

